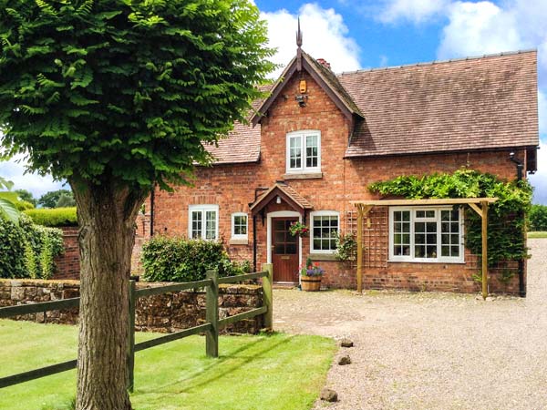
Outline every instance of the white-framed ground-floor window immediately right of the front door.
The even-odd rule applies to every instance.
[[[334,253],[340,214],[334,210],[317,210],[310,213],[310,224],[312,253]]]

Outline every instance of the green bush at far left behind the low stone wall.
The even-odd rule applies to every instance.
[[[36,225],[25,214],[19,224],[0,218],[0,277],[48,279],[53,259],[64,251],[63,232]]]

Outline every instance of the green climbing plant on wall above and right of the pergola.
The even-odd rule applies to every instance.
[[[526,215],[531,209],[532,187],[527,180],[505,181],[472,169],[453,174],[422,177],[401,176],[376,182],[369,190],[411,200],[427,198],[498,198],[490,204],[488,220],[488,262],[518,261],[528,257],[525,231]],[[467,208],[467,207],[465,207]],[[473,253],[481,253],[481,220],[476,212],[465,209],[465,243]]]

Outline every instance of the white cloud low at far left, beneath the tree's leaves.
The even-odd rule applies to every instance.
[[[54,181],[51,177],[42,177],[38,174],[25,174],[26,162],[23,156],[0,162],[0,176],[14,182],[12,190],[29,190],[35,198],[39,198],[47,191],[62,189],[62,182]],[[65,189],[67,189],[65,187]]]

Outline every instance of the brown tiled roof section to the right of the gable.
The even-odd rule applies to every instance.
[[[539,143],[536,52],[338,76],[365,120],[346,157]]]

